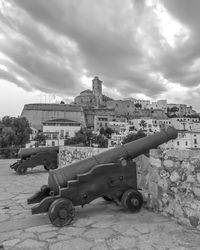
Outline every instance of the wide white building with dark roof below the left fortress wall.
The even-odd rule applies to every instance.
[[[81,129],[81,123],[68,119],[54,119],[43,122],[46,146],[64,145],[65,139],[74,137]]]

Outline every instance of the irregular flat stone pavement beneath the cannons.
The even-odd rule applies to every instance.
[[[46,214],[31,215],[29,196],[47,183],[41,167],[19,176],[0,160],[0,249],[13,250],[199,250],[200,232],[142,209],[125,212],[97,199],[76,208],[72,225],[56,228]]]

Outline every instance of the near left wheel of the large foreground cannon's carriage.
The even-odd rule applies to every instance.
[[[55,200],[49,207],[49,219],[56,227],[69,225],[75,216],[72,202],[65,198]]]

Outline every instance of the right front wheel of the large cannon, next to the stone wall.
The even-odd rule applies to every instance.
[[[128,189],[123,193],[121,203],[130,212],[138,212],[143,204],[143,196],[137,190]]]

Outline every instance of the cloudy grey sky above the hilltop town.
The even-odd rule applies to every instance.
[[[199,0],[0,0],[0,118],[73,101],[92,79],[114,99],[200,112]]]

